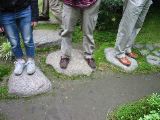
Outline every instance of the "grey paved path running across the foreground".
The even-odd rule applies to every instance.
[[[115,106],[160,92],[160,73],[96,72],[83,80],[54,80],[53,93],[0,101],[6,120],[105,120]]]

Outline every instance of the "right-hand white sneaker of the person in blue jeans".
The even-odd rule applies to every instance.
[[[36,65],[34,59],[28,59],[26,63],[26,70],[28,75],[32,75],[36,71]]]

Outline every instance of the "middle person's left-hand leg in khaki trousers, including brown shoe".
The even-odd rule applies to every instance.
[[[62,56],[61,57],[62,58],[60,61],[60,67],[63,69],[67,68],[67,65],[69,63],[69,58],[71,57],[72,32],[74,31],[74,27],[77,23],[79,16],[80,16],[79,9],[76,9],[64,4],[63,13],[62,13],[63,32],[61,33],[61,37],[62,37],[62,42],[61,42]]]

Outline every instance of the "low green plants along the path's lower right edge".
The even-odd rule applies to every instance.
[[[159,111],[160,95],[153,94],[135,102],[120,105],[108,114],[107,120],[138,120],[151,111]]]

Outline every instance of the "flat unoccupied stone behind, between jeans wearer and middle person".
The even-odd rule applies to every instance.
[[[61,37],[59,36],[58,30],[34,30],[33,35],[37,47],[60,45],[61,43]]]

